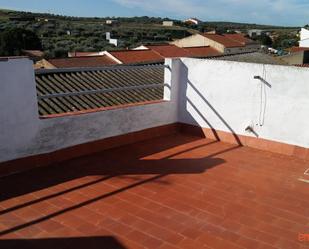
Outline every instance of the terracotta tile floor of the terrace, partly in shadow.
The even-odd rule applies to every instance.
[[[0,179],[0,248],[309,248],[307,168],[178,134],[35,169]]]

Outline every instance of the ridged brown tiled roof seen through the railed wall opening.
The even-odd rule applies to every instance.
[[[40,70],[36,72],[38,96],[159,84],[148,89],[122,90],[56,98],[39,98],[39,114],[51,115],[77,112],[161,100],[163,98],[164,67],[112,66],[84,70]]]

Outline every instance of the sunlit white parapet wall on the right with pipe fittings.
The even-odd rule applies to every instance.
[[[199,59],[181,64],[180,122],[309,148],[308,69]]]

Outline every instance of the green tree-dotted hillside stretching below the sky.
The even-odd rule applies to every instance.
[[[106,20],[115,20],[112,25]],[[68,51],[102,51],[131,48],[145,43],[165,43],[189,36],[192,33],[216,29],[281,29],[290,27],[258,25],[233,22],[204,22],[187,25],[179,20],[174,26],[162,25],[168,18],[159,17],[72,17],[48,13],[32,13],[14,10],[0,10],[0,32],[7,28],[24,28],[35,32],[41,39],[47,57],[65,57]],[[297,29],[297,28],[294,28]],[[118,39],[118,47],[106,40],[106,32]]]

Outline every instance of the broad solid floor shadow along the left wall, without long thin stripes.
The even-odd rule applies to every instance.
[[[0,201],[86,176],[96,175],[101,176],[101,178],[75,187],[72,191],[115,176],[128,174],[198,174],[222,164],[222,159],[213,158],[211,155],[205,155],[201,159],[190,158],[190,156],[177,160],[170,158],[215,143],[209,140],[199,142],[199,140],[201,140],[200,137],[179,134],[161,137],[68,160],[49,167],[36,168],[20,174],[6,176],[0,178],[0,189],[5,190],[0,192]],[[197,144],[195,144],[196,142]],[[177,149],[179,146],[181,146],[181,149]],[[175,150],[175,153],[172,155],[165,153],[169,149]],[[156,160],[143,160],[144,157],[156,153],[162,153],[163,156]],[[64,191],[61,194],[67,192]],[[1,213],[2,211],[0,211]]]

